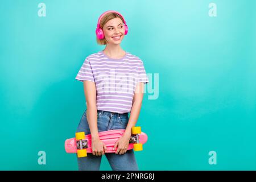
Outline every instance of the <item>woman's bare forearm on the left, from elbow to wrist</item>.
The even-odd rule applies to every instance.
[[[88,104],[86,110],[87,121],[90,128],[90,134],[93,139],[98,139],[98,126],[97,126],[97,107],[96,104]]]

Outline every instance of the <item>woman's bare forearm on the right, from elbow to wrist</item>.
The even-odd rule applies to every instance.
[[[141,112],[141,106],[142,102],[141,101],[135,101],[133,103],[133,106],[131,107],[131,113],[130,113],[130,118],[129,122],[126,126],[125,129],[125,135],[131,135],[131,128],[136,125],[138,118],[139,118],[139,113]]]

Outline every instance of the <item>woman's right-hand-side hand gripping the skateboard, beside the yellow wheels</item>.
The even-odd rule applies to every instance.
[[[131,134],[130,133],[124,133],[122,137],[120,137],[117,142],[115,142],[115,145],[113,147],[113,150],[117,148],[117,151],[115,154],[125,154],[127,151],[127,148],[129,146]]]

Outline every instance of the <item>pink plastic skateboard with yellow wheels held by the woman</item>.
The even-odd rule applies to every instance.
[[[106,153],[115,152],[113,150],[114,144],[119,137],[123,135],[125,130],[109,130],[99,132],[99,137],[106,145]],[[141,127],[133,127],[130,144],[127,150],[134,149],[134,151],[141,151],[142,144],[147,142],[146,133],[141,132]],[[79,158],[86,157],[87,153],[92,153],[91,136],[85,135],[84,132],[76,133],[76,138],[69,138],[65,140],[65,151],[67,153],[77,153]]]

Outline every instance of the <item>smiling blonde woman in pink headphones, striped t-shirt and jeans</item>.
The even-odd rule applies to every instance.
[[[103,51],[86,57],[76,79],[84,84],[86,107],[77,132],[92,136],[92,154],[77,158],[79,170],[99,170],[101,156],[106,155],[113,170],[138,170],[134,151],[127,150],[131,128],[142,106],[144,83],[148,78],[139,57],[123,51],[120,44],[127,34],[125,19],[117,11],[106,11],[98,19],[97,43]],[[130,113],[130,117],[129,117]],[[125,129],[113,150],[105,153],[101,131]]]

